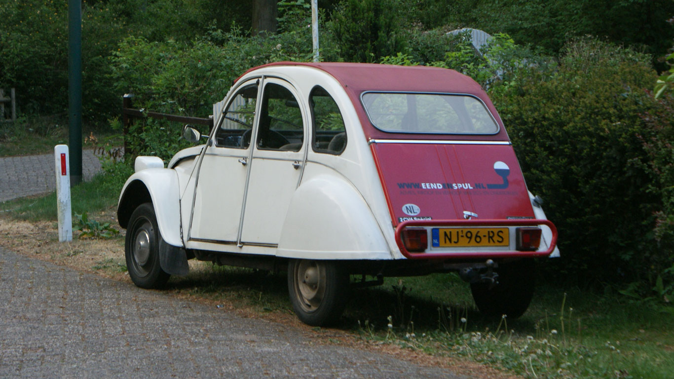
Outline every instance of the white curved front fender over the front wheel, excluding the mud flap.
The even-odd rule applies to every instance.
[[[145,169],[131,175],[119,196],[119,225],[126,228],[133,210],[144,202],[152,202],[164,241],[169,245],[183,247],[177,173],[172,169]]]

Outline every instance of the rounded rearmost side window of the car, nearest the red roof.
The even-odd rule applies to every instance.
[[[346,127],[334,98],[324,88],[315,86],[309,94],[309,105],[313,117],[313,150],[342,154],[346,148]]]

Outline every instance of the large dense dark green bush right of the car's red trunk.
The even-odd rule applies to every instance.
[[[594,39],[565,47],[559,69],[520,71],[490,92],[530,190],[559,228],[561,273],[581,283],[644,279],[661,252],[653,212],[660,199],[640,138],[649,57]]]

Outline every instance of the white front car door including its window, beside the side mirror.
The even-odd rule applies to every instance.
[[[191,241],[238,243],[258,86],[259,80],[239,86],[206,148],[195,190]]]

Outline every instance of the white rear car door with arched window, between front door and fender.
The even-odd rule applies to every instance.
[[[305,164],[307,111],[288,82],[264,79],[241,243],[276,247]]]

